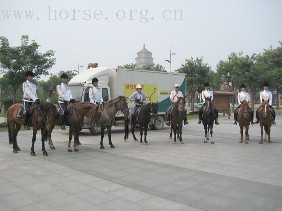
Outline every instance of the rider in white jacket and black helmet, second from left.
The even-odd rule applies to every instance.
[[[66,117],[68,115],[67,103],[74,103],[75,99],[73,99],[71,88],[67,86],[68,75],[63,73],[61,75],[61,81],[62,83],[57,85],[57,94],[59,96],[58,105],[60,106],[61,110],[64,111],[61,129],[66,130]]]

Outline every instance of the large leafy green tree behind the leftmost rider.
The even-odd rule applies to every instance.
[[[48,75],[48,70],[55,64],[54,51],[39,52],[35,40],[29,43],[27,35],[21,37],[20,46],[10,46],[6,37],[0,37],[0,67],[4,72],[3,78],[12,85],[13,102],[16,92],[25,79],[26,71],[33,71],[36,78]]]

